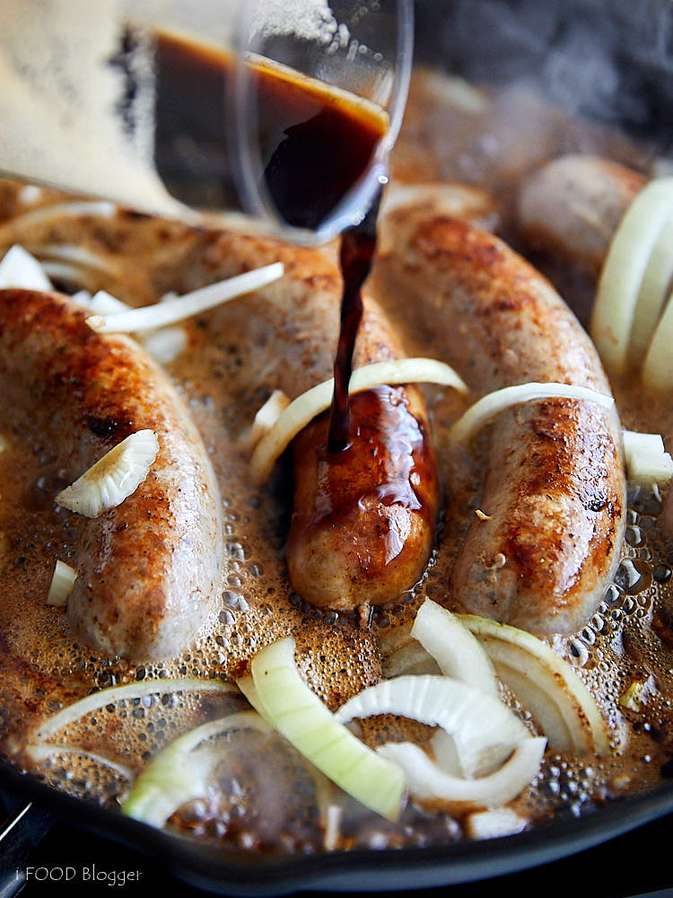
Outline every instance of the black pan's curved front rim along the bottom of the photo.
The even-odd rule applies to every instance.
[[[273,896],[308,889],[405,891],[477,882],[568,857],[673,812],[673,786],[664,784],[642,795],[613,799],[578,818],[557,819],[493,840],[267,858],[157,830],[48,786],[4,761],[0,761],[0,788],[141,856],[161,858],[162,867],[190,885],[232,896]]]

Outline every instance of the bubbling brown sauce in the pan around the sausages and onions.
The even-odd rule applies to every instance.
[[[414,103],[412,122],[422,106],[419,98]],[[582,131],[583,136],[586,134]],[[597,143],[607,152],[607,141]],[[555,149],[558,145],[547,147],[546,152],[551,155]],[[637,157],[638,148],[630,147],[629,153]],[[491,187],[500,184],[500,195],[507,198],[516,178],[511,172],[498,170],[495,163],[493,166],[485,180]],[[20,215],[19,191],[19,187],[8,187],[6,208],[11,211],[4,213],[0,208],[0,216]],[[77,242],[100,253],[107,246],[107,251],[118,253],[114,258],[122,271],[137,269],[141,261],[150,264],[155,253],[161,261],[156,262],[154,272],[154,298],[171,288],[197,286],[194,279],[207,279],[212,246],[204,235],[182,231],[174,225],[167,228],[144,218],[128,218],[118,225],[124,239],[121,234],[111,233],[115,225],[104,222],[97,225],[101,232],[97,234],[91,233],[91,225],[78,231],[72,224],[68,230],[66,223],[61,225],[58,239]],[[19,217],[13,234],[21,234]],[[50,234],[48,239],[56,238]],[[176,256],[177,261],[173,258]],[[115,292],[113,283],[105,286]],[[121,281],[119,286],[124,288]],[[150,289],[147,285],[145,288]],[[323,613],[303,603],[293,594],[284,566],[286,471],[279,468],[264,491],[251,489],[246,479],[246,457],[238,451],[255,411],[278,385],[281,370],[269,368],[264,352],[264,347],[277,336],[277,321],[271,316],[263,318],[256,314],[258,311],[254,302],[245,307],[229,304],[212,317],[199,316],[189,322],[188,347],[170,365],[170,374],[188,401],[222,489],[228,564],[222,601],[210,628],[192,649],[168,663],[129,665],[119,659],[97,657],[74,642],[63,611],[46,606],[44,597],[54,556],[59,553],[66,560],[72,551],[72,523],[55,514],[45,498],[59,476],[54,468],[53,447],[42,445],[39,431],[31,421],[17,416],[6,398],[0,399],[0,435],[7,442],[0,479],[0,747],[4,757],[15,765],[30,766],[35,775],[57,788],[110,808],[118,805],[118,797],[126,788],[123,777],[103,765],[74,756],[57,756],[51,762],[29,765],[22,746],[29,738],[31,726],[104,686],[163,677],[231,678],[245,669],[259,648],[287,633],[297,638],[298,661],[307,682],[334,708],[380,678],[380,644],[413,619],[424,597],[439,602],[445,598],[455,546],[478,507],[483,446],[466,453],[463,460],[469,476],[454,505],[463,507],[465,514],[444,522],[424,577],[397,602],[376,609],[368,629],[347,614]],[[398,306],[391,311],[404,329],[410,355],[441,357],[440,330],[420,332],[414,310],[404,304],[402,297],[398,297]],[[322,364],[328,365],[329,360]],[[616,384],[616,397],[625,427],[673,432],[666,402],[643,403],[638,391],[628,384]],[[448,392],[433,390],[427,391],[427,400],[435,441],[441,445],[459,414],[460,402]],[[107,427],[105,422],[96,426]],[[439,464],[441,479],[447,483],[448,464],[441,456]],[[515,803],[531,823],[589,813],[612,798],[646,791],[670,777],[673,684],[669,682],[669,668],[673,667],[673,659],[669,647],[661,643],[651,626],[652,619],[657,619],[656,627],[665,635],[665,612],[673,603],[673,541],[670,528],[660,521],[660,513],[660,498],[632,491],[623,548],[624,559],[629,563],[617,572],[616,584],[607,591],[599,611],[586,627],[572,638],[554,640],[556,650],[576,666],[578,675],[597,698],[610,727],[613,753],[599,760],[548,753],[538,779]],[[633,682],[644,684],[640,709],[620,704]],[[508,700],[532,726],[515,698],[508,694]],[[231,699],[218,700],[205,693],[178,698],[158,695],[148,702],[110,706],[70,726],[63,741],[113,757],[137,771],[175,735],[204,719],[226,713],[231,707]],[[379,735],[386,735],[387,727],[394,728],[390,721],[381,722]],[[371,738],[375,739],[376,727],[371,729]],[[238,763],[243,764],[244,760]],[[296,759],[279,760],[279,769],[283,764],[292,766]],[[245,770],[254,779],[257,774],[252,767]],[[262,771],[257,773],[261,777]],[[223,782],[233,775],[231,771],[223,773]],[[292,832],[284,832],[279,824],[275,834],[260,833],[251,805],[243,807],[242,814],[233,814],[231,800],[227,799],[226,805],[224,798],[219,804],[214,800],[185,808],[173,823],[183,832],[241,850],[320,850],[315,792],[303,773],[293,775],[297,782],[301,780],[301,794],[308,811],[306,821]],[[252,794],[264,794],[264,782],[256,780]],[[340,847],[345,848],[446,844],[462,838],[459,814],[427,815],[413,806],[407,808],[401,823],[393,825],[381,823],[371,815],[363,818],[361,808],[346,804],[342,832]]]

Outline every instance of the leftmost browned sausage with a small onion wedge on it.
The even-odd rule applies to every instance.
[[[74,632],[101,655],[176,656],[205,623],[222,574],[221,501],[200,437],[166,375],[131,339],[101,335],[65,297],[0,291],[0,383],[63,485],[135,431],[159,453],[144,482],[94,519],[73,515]]]

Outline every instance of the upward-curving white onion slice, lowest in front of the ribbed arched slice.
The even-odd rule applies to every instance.
[[[409,794],[418,801],[468,807],[500,807],[516,798],[538,775],[546,739],[531,738],[517,745],[509,761],[488,776],[462,779],[445,773],[423,749],[411,743],[381,745],[378,753],[406,773]]]

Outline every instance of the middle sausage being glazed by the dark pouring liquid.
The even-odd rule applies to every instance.
[[[196,277],[229,277],[268,262],[284,263],[282,280],[217,309],[210,339],[236,334],[248,347],[250,386],[291,399],[332,375],[342,281],[315,250],[250,234],[221,233],[190,267]],[[397,335],[371,297],[354,366],[403,355]],[[328,416],[293,441],[293,519],[287,564],[307,602],[337,610],[394,601],[423,574],[433,545],[440,489],[428,421],[413,386],[354,397],[351,446],[327,450]]]

